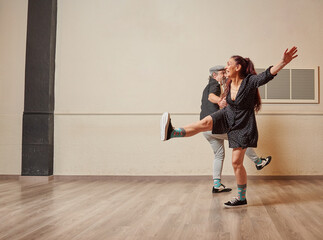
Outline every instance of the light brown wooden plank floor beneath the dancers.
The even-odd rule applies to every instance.
[[[249,180],[248,207],[207,179],[0,180],[0,239],[323,239],[323,180]]]

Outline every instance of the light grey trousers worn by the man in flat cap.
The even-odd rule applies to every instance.
[[[227,134],[212,134],[212,131],[203,132],[204,137],[209,141],[213,152],[213,179],[221,179],[221,173],[223,168],[223,160],[225,156],[224,152],[224,140],[228,140]],[[253,148],[247,148],[246,155],[254,163],[257,162],[258,156]]]

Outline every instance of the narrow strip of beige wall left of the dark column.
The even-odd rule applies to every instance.
[[[26,0],[0,0],[0,174],[21,173]]]

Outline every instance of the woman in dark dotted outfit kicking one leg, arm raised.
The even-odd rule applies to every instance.
[[[161,119],[161,140],[175,137],[191,137],[199,132],[212,130],[213,134],[228,134],[229,147],[232,150],[232,166],[238,185],[238,197],[224,204],[225,207],[242,207],[247,205],[247,173],[243,158],[248,147],[257,147],[258,131],[255,111],[261,107],[258,87],[268,83],[298,55],[297,48],[286,49],[282,59],[275,66],[256,75],[254,65],[249,58],[232,56],[227,62],[226,73],[229,80],[224,93],[227,107],[217,111],[201,121],[183,128],[174,129],[169,113]]]

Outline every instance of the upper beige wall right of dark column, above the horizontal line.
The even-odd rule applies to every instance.
[[[322,66],[322,8],[320,0],[58,1],[56,111],[196,113],[209,67],[233,54],[261,68],[296,45],[290,67]],[[264,111],[300,108],[322,110]]]

